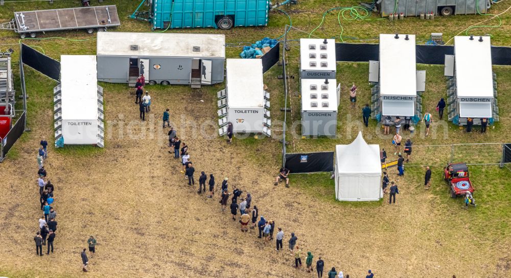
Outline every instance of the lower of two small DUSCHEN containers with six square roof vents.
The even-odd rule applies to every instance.
[[[335,79],[301,79],[301,135],[335,136],[339,90]]]

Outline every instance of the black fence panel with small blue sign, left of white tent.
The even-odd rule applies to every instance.
[[[291,174],[334,171],[334,152],[286,153]]]

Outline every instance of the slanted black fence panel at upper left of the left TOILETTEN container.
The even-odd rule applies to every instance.
[[[32,67],[41,74],[57,81],[60,80],[59,61],[36,51],[26,44],[21,44],[21,57],[26,65]]]

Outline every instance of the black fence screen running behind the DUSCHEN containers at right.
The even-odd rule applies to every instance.
[[[335,44],[335,56],[338,62],[368,62],[379,60],[379,44],[344,43]],[[454,55],[452,45],[417,44],[415,56],[417,63],[443,65],[445,55]],[[492,64],[511,65],[511,48],[492,47]]]

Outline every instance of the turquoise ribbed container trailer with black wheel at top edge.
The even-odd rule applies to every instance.
[[[286,4],[286,0],[272,5],[268,0],[143,0],[130,18],[146,20],[151,28],[205,28],[228,30],[237,26],[267,26],[270,9]],[[148,11],[139,11],[142,6]]]

